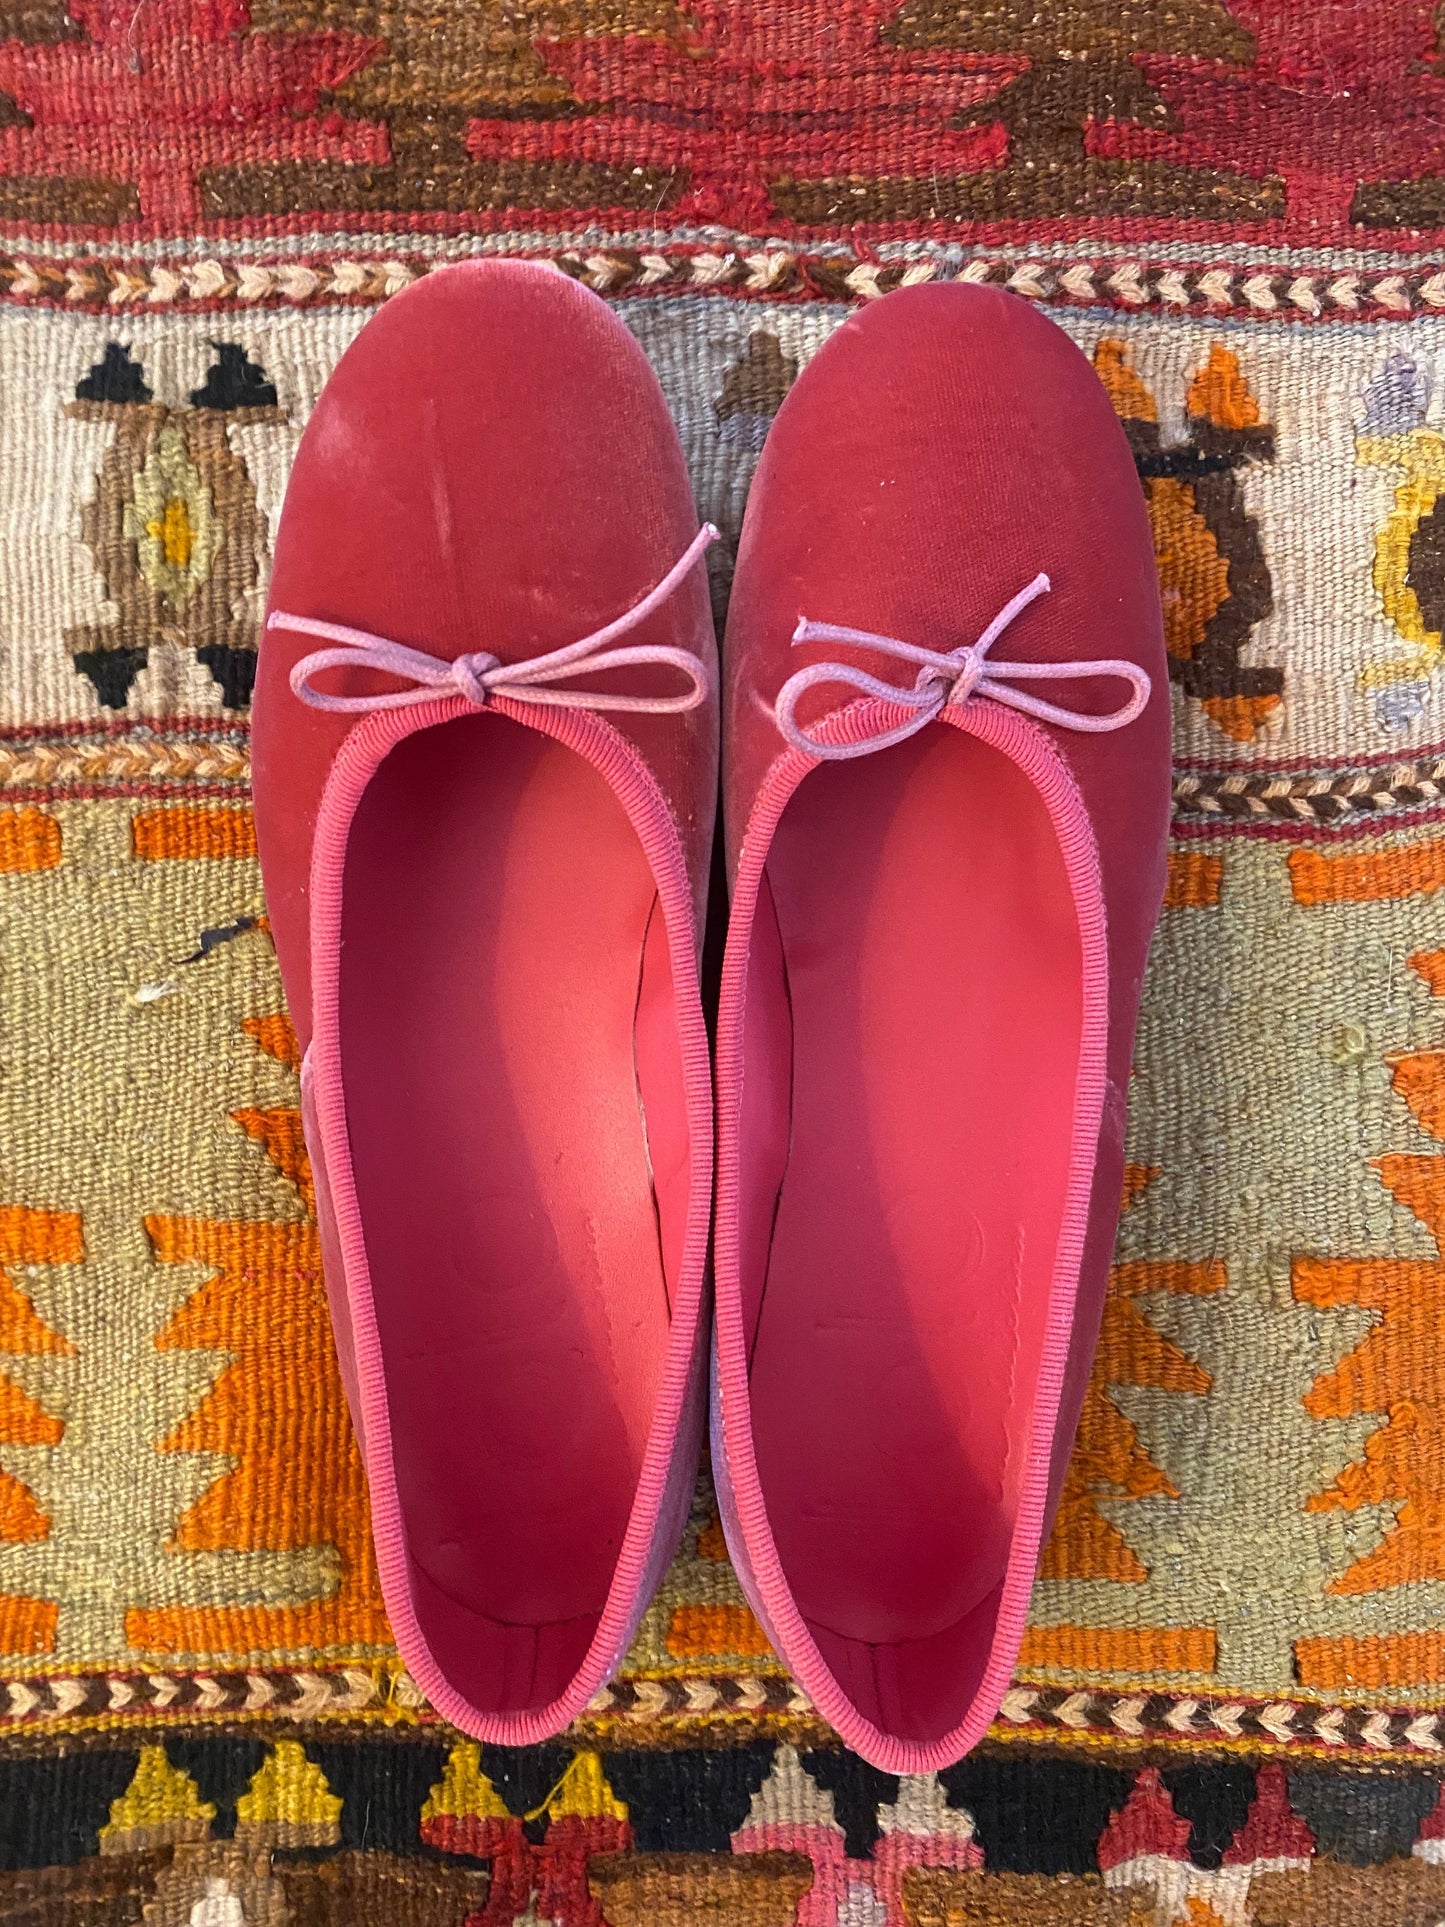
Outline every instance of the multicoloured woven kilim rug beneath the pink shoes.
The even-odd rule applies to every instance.
[[[1445,1917],[1441,35],[0,0],[0,1919]],[[836,1746],[705,1476],[565,1742],[466,1744],[389,1644],[247,703],[328,370],[493,252],[617,301],[730,540],[900,283],[1038,303],[1135,449],[1177,840],[1129,1208],[1023,1669],[936,1777]]]

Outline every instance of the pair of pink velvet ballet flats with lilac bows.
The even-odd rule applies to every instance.
[[[541,1740],[618,1667],[711,1380],[767,1636],[929,1771],[1008,1686],[1114,1243],[1150,530],[1087,360],[954,283],[782,403],[721,686],[713,538],[644,353],[549,268],[426,277],[316,405],[254,792],[337,1355],[399,1650],[464,1732]]]

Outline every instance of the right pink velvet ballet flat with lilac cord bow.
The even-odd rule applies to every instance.
[[[1144,501],[1000,291],[850,318],[778,412],[724,644],[713,1463],[865,1759],[1000,1705],[1098,1332],[1169,809]]]

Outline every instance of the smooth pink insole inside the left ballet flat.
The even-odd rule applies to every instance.
[[[391,752],[343,902],[347,1120],[418,1615],[474,1703],[543,1703],[595,1630],[667,1347],[678,1235],[638,1075],[645,1058],[670,1114],[655,884],[603,779],[491,715]]]

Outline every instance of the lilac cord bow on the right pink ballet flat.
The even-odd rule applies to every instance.
[[[919,673],[909,690],[900,688],[896,682],[884,682],[880,676],[871,676],[865,669],[855,669],[852,663],[809,663],[807,669],[800,669],[788,676],[778,690],[773,705],[778,732],[794,750],[801,750],[805,755],[823,757],[825,761],[844,761],[852,755],[871,755],[875,750],[906,742],[921,728],[927,728],[948,703],[965,703],[973,696],[986,696],[996,703],[1006,703],[1010,709],[1021,709],[1040,723],[1054,723],[1058,728],[1083,730],[1087,734],[1125,728],[1143,711],[1150,696],[1150,678],[1139,663],[1127,663],[1119,657],[1081,663],[988,661],[988,651],[1010,622],[1029,603],[1046,595],[1048,590],[1048,576],[1035,576],[1027,588],[1004,603],[977,642],[965,644],[961,649],[950,649],[948,653],[923,649],[919,644],[900,642],[896,636],[875,636],[867,628],[809,622],[807,617],[800,617],[792,638],[794,647],[805,642],[846,642],[859,649],[873,649],[879,655],[892,655],[900,663],[919,663]],[[1089,676],[1119,676],[1133,686],[1133,694],[1119,709],[1112,709],[1106,715],[1089,715],[1083,709],[1064,709],[1058,703],[1046,703],[1038,696],[1029,696],[1027,690],[1013,688],[1015,682],[1079,682]],[[913,709],[913,715],[894,728],[865,736],[861,742],[819,742],[817,736],[809,736],[798,723],[796,713],[800,696],[817,688],[819,682],[846,682],[861,696],[877,696],[900,709]]]

